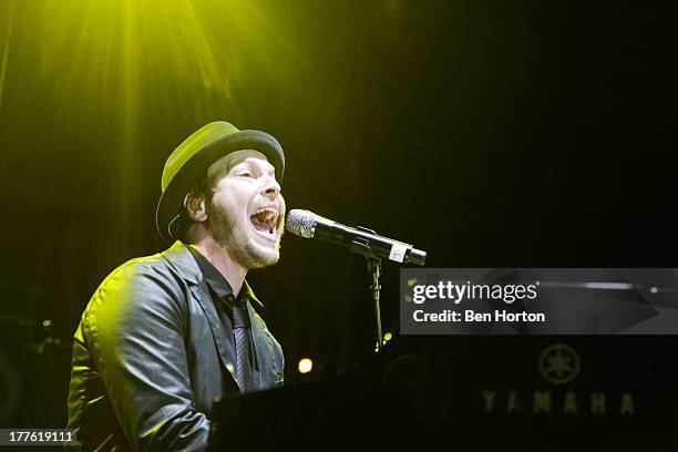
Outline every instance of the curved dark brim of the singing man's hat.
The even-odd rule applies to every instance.
[[[184,197],[205,177],[207,168],[224,155],[242,150],[258,151],[276,168],[276,179],[282,182],[285,174],[285,154],[282,146],[271,135],[260,131],[239,131],[217,138],[196,152],[172,178],[155,209],[155,225],[166,244],[176,237],[175,218],[182,213]]]

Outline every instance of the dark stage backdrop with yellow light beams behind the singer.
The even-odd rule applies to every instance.
[[[164,248],[164,161],[215,120],[278,137],[288,208],[412,243],[430,267],[676,267],[676,18],[640,2],[0,1],[0,400],[21,400],[0,420],[65,423],[80,315],[113,268]],[[291,235],[281,256],[248,280],[288,381],[301,357],[364,361],[364,261]],[[384,266],[389,331],[398,277]]]

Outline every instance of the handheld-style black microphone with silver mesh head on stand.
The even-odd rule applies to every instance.
[[[349,227],[332,222],[309,210],[295,208],[289,210],[285,228],[304,238],[318,238],[337,245],[343,245],[353,253],[368,257],[387,258],[400,264],[423,265],[427,253],[412,245],[382,237],[364,227]]]

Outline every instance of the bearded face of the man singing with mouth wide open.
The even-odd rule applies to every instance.
[[[207,176],[213,196],[206,226],[215,240],[245,268],[276,264],[285,199],[275,167],[257,151],[236,151],[209,166]]]

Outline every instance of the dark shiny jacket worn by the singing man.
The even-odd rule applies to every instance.
[[[181,242],[109,275],[73,343],[69,428],[83,450],[207,448],[214,399],[239,392],[217,309]],[[248,310],[255,387],[281,386],[280,345]]]

